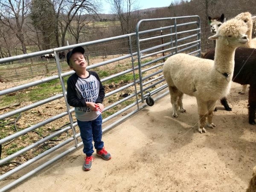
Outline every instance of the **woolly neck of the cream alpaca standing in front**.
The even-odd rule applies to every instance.
[[[221,74],[233,74],[236,48],[225,46],[220,41],[216,42],[214,67]]]

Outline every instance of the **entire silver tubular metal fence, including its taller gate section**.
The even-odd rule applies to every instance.
[[[161,24],[161,26],[158,28],[139,31],[142,23],[147,23],[148,26],[157,26],[157,24]],[[64,77],[70,76],[74,73],[74,71],[63,72],[63,66],[62,62],[58,58],[58,52],[67,51],[69,49],[73,49],[73,47],[76,46],[88,47],[97,44],[104,45],[119,40],[122,40],[122,42],[128,42],[127,49],[125,49],[125,51],[122,52],[122,56],[119,55],[116,58],[111,58],[107,61],[104,60],[102,62],[98,62],[87,67],[87,70],[98,69],[99,67],[109,66],[110,64],[113,64],[115,62],[124,61],[125,63],[129,60],[128,64],[127,62],[125,63],[125,66],[127,67],[126,69],[118,71],[114,74],[110,74],[109,76],[101,79],[102,83],[104,84],[104,82],[111,82],[113,79],[118,78],[119,76],[124,76],[127,74],[131,74],[133,76],[133,79],[131,81],[128,81],[121,87],[116,87],[116,89],[111,90],[110,92],[105,94],[105,98],[108,98],[117,93],[120,94],[122,93],[122,91],[126,89],[132,90],[132,92],[129,93],[128,96],[125,96],[125,98],[119,99],[116,102],[110,102],[108,103],[108,105],[106,105],[103,114],[115,108],[117,105],[122,105],[122,108],[118,108],[118,110],[115,113],[110,114],[103,119],[102,131],[104,133],[105,131],[108,131],[114,126],[120,124],[125,119],[131,117],[141,109],[145,108],[147,105],[143,104],[144,100],[146,100],[148,105],[154,105],[154,101],[162,98],[163,96],[169,93],[169,91],[166,90],[167,84],[165,83],[165,80],[163,79],[162,75],[162,66],[164,64],[165,59],[178,52],[195,54],[195,56],[200,57],[200,34],[200,18],[198,16],[146,19],[140,20],[138,22],[136,33],[120,35],[112,38],[105,38],[96,41],[90,41],[86,43],[70,45],[55,49],[48,49],[45,51],[29,53],[26,55],[17,55],[10,58],[0,59],[0,64],[7,64],[9,62],[21,62],[27,60],[28,58],[34,58],[44,54],[53,53],[55,55],[57,69],[57,74],[49,75],[44,79],[0,90],[0,97],[5,97],[11,93],[16,93],[18,91],[31,89],[33,87],[54,80],[60,81],[62,90],[62,93],[49,96],[46,99],[33,102],[32,104],[27,104],[21,106],[20,108],[15,107],[10,110],[7,110],[6,112],[0,111],[1,123],[3,123],[4,121],[8,122],[9,118],[14,118],[13,116],[17,116],[17,114],[21,114],[24,112],[29,113],[29,110],[36,109],[37,107],[45,105],[47,103],[49,104],[49,102],[58,101],[58,99],[64,99],[65,101],[64,112],[57,114],[49,114],[50,117],[44,119],[41,122],[37,122],[34,124],[32,122],[33,125],[29,125],[26,128],[22,128],[11,135],[8,135],[4,138],[0,138],[1,151],[5,150],[5,146],[3,145],[12,142],[16,138],[20,138],[28,133],[31,133],[32,131],[36,131],[38,128],[47,128],[49,123],[53,121],[58,121],[62,117],[67,116],[69,119],[68,125],[61,126],[58,129],[56,129],[55,132],[45,135],[40,140],[35,141],[34,143],[29,144],[26,147],[18,151],[15,151],[9,155],[6,155],[6,157],[4,157],[3,159],[0,159],[0,166],[9,165],[9,163],[15,160],[15,158],[25,154],[28,151],[31,151],[34,148],[44,145],[49,140],[52,140],[52,138],[54,137],[58,137],[59,135],[64,134],[65,132],[68,131],[70,133],[70,136],[65,138],[64,141],[56,143],[56,145],[54,145],[52,148],[49,148],[48,150],[43,151],[40,154],[37,154],[35,157],[26,160],[26,162],[24,163],[18,163],[18,166],[16,165],[13,169],[10,169],[8,172],[5,172],[4,174],[0,175],[2,187],[0,191],[2,192],[11,189],[18,183],[26,180],[30,176],[34,175],[35,173],[39,172],[40,170],[44,169],[45,167],[49,166],[50,164],[61,159],[65,155],[69,154],[70,152],[78,149],[83,145],[81,142],[80,133],[76,127],[77,123],[75,122],[72,116],[74,108],[70,108],[70,106],[67,104],[66,98],[67,96]],[[136,42],[137,46],[133,46],[134,42]],[[144,44],[142,42],[148,43]],[[137,52],[134,52],[134,49],[137,49]],[[147,59],[145,60],[145,58]],[[119,65],[116,65],[115,67],[118,68]],[[15,118],[15,121],[17,122],[19,117]],[[111,122],[109,125],[105,125],[111,119],[115,120]],[[26,120],[31,121],[31,119]],[[57,154],[54,157],[52,157],[53,152]],[[29,166],[31,166],[32,163],[35,163],[38,160],[40,160],[40,163],[38,164],[36,169],[32,171],[26,171],[28,170],[25,169],[26,167],[29,168]],[[23,170],[23,172],[25,172],[22,176],[18,176],[18,178],[12,182],[6,180],[10,176],[17,175],[17,173],[20,170]]]

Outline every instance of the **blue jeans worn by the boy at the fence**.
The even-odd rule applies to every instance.
[[[100,115],[92,121],[77,120],[77,124],[84,144],[83,152],[87,157],[90,157],[94,152],[93,141],[94,147],[97,150],[101,150],[104,146],[104,142],[102,141],[102,116]]]

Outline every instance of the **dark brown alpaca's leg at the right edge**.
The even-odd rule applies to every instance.
[[[256,113],[256,85],[250,85],[249,89],[249,123],[252,125],[256,125],[255,121],[255,113]]]

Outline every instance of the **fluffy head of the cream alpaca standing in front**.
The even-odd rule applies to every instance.
[[[221,44],[236,48],[249,41],[248,36],[246,35],[247,31],[248,27],[244,21],[233,18],[223,23],[219,27],[217,33],[209,37],[209,39],[218,39],[218,41],[221,41]]]

